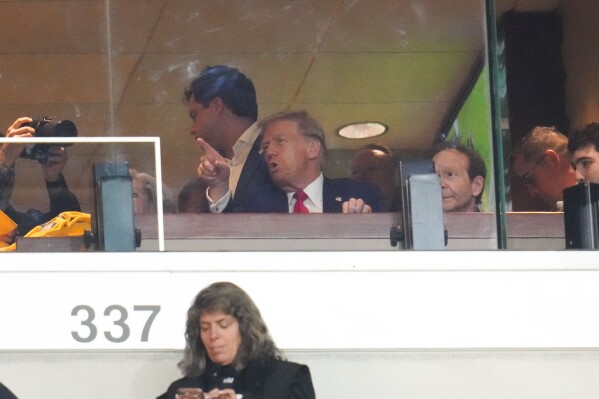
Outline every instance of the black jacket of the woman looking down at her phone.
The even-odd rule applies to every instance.
[[[233,388],[242,399],[314,399],[314,387],[308,366],[272,359],[250,362],[241,372],[232,367],[209,364],[199,377],[183,377],[174,381],[157,399],[175,399],[179,388]]]

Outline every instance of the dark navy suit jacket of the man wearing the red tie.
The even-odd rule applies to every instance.
[[[370,183],[362,183],[352,179],[324,178],[322,186],[322,210],[324,213],[340,213],[343,202],[350,198],[362,198],[373,212],[384,212],[388,209],[379,188]],[[247,213],[288,213],[287,194],[274,184],[252,186],[243,198],[236,199],[234,212]]]

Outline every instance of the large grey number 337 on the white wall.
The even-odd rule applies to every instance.
[[[71,336],[77,342],[89,343],[98,338],[98,325],[112,322],[109,330],[103,331],[104,337],[113,343],[137,340],[148,342],[152,323],[160,312],[160,305],[134,305],[133,312],[148,312],[147,318],[139,335],[134,331],[131,336],[130,317],[127,308],[122,305],[110,305],[104,309],[103,316],[97,316],[96,311],[89,305],[77,305],[71,310],[71,316],[79,320],[81,327],[71,331]]]

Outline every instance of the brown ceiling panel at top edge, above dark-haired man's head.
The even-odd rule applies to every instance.
[[[311,52],[334,8],[334,1],[172,0],[147,51]]]

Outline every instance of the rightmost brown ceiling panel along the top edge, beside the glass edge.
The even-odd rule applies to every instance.
[[[345,1],[321,51],[479,51],[482,1]]]

